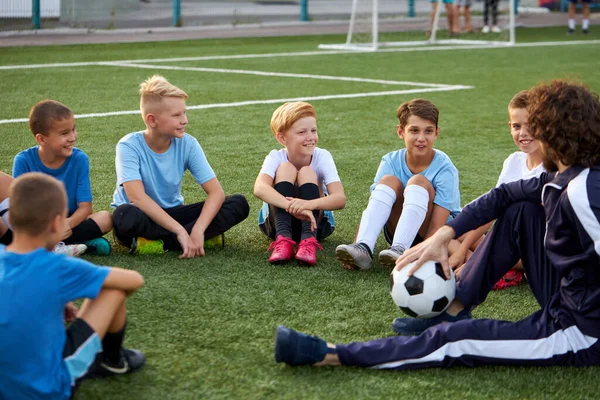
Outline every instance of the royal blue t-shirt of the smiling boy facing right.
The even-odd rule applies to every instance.
[[[27,172],[42,172],[61,181],[67,191],[69,215],[77,210],[79,203],[91,202],[90,161],[87,154],[74,148],[73,154],[67,157],[63,165],[54,169],[42,163],[38,154],[39,147],[31,147],[15,156],[13,176],[16,178]]]

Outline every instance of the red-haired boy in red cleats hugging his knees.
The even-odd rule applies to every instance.
[[[263,200],[260,229],[272,240],[271,264],[294,257],[315,265],[319,240],[335,229],[332,210],[346,205],[344,187],[331,154],[317,147],[317,115],[312,105],[285,103],[271,118],[271,130],[283,149],[272,150],[254,183]],[[294,246],[298,248],[294,252]]]

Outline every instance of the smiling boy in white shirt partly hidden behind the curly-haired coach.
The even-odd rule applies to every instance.
[[[520,179],[536,178],[544,172],[542,165],[542,149],[540,143],[533,139],[529,132],[527,119],[528,92],[522,90],[510,100],[508,104],[508,126],[515,145],[520,151],[515,151],[504,160],[502,171],[498,178],[496,187],[503,183],[518,181]],[[483,235],[492,226],[493,222],[485,224],[478,229],[468,232],[458,240],[450,243],[450,268],[460,268],[464,262],[471,257],[472,252],[483,240]],[[458,273],[458,271],[457,271]],[[508,271],[502,279],[494,285],[495,290],[517,286],[523,281],[523,266],[519,261],[517,265]]]

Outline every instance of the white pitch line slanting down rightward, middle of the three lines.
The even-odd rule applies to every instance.
[[[174,71],[198,71],[198,72],[215,72],[222,74],[242,74],[242,75],[258,75],[258,76],[276,76],[283,78],[302,78],[302,79],[324,79],[330,81],[349,81],[362,83],[379,83],[382,85],[405,85],[405,86],[423,86],[423,87],[438,87],[443,88],[449,85],[439,83],[424,83],[424,82],[409,82],[409,81],[388,81],[383,79],[355,78],[349,76],[332,76],[332,75],[311,75],[311,74],[292,74],[289,72],[267,72],[253,71],[244,69],[224,69],[224,68],[203,68],[203,67],[178,67],[172,65],[152,65],[152,64],[134,64],[123,62],[111,62],[105,65],[129,68],[146,68],[146,69],[165,69]]]

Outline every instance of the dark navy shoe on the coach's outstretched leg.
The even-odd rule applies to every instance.
[[[318,336],[309,336],[284,326],[277,326],[275,333],[275,362],[288,365],[312,365],[323,361],[329,349],[327,342]]]

